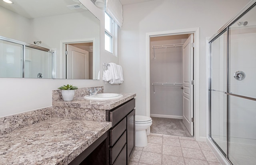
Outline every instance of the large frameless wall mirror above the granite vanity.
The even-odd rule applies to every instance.
[[[78,0],[0,0],[0,78],[97,80],[100,20]]]

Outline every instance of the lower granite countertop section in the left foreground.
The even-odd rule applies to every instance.
[[[0,164],[67,165],[111,122],[52,118],[0,135]]]

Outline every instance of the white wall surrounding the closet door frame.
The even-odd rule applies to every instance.
[[[200,90],[196,92],[200,93],[200,137],[206,137],[206,37],[215,34],[248,2],[153,0],[124,5],[119,60],[129,69],[124,70],[126,81],[120,91],[137,93],[136,114],[146,115],[146,33],[200,27]]]

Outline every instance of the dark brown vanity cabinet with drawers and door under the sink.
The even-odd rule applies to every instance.
[[[109,164],[128,165],[134,151],[135,99],[106,111],[106,121],[112,122],[109,131]]]

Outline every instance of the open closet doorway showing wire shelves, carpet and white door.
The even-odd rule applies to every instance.
[[[193,32],[149,36],[150,133],[194,136],[194,43]]]

